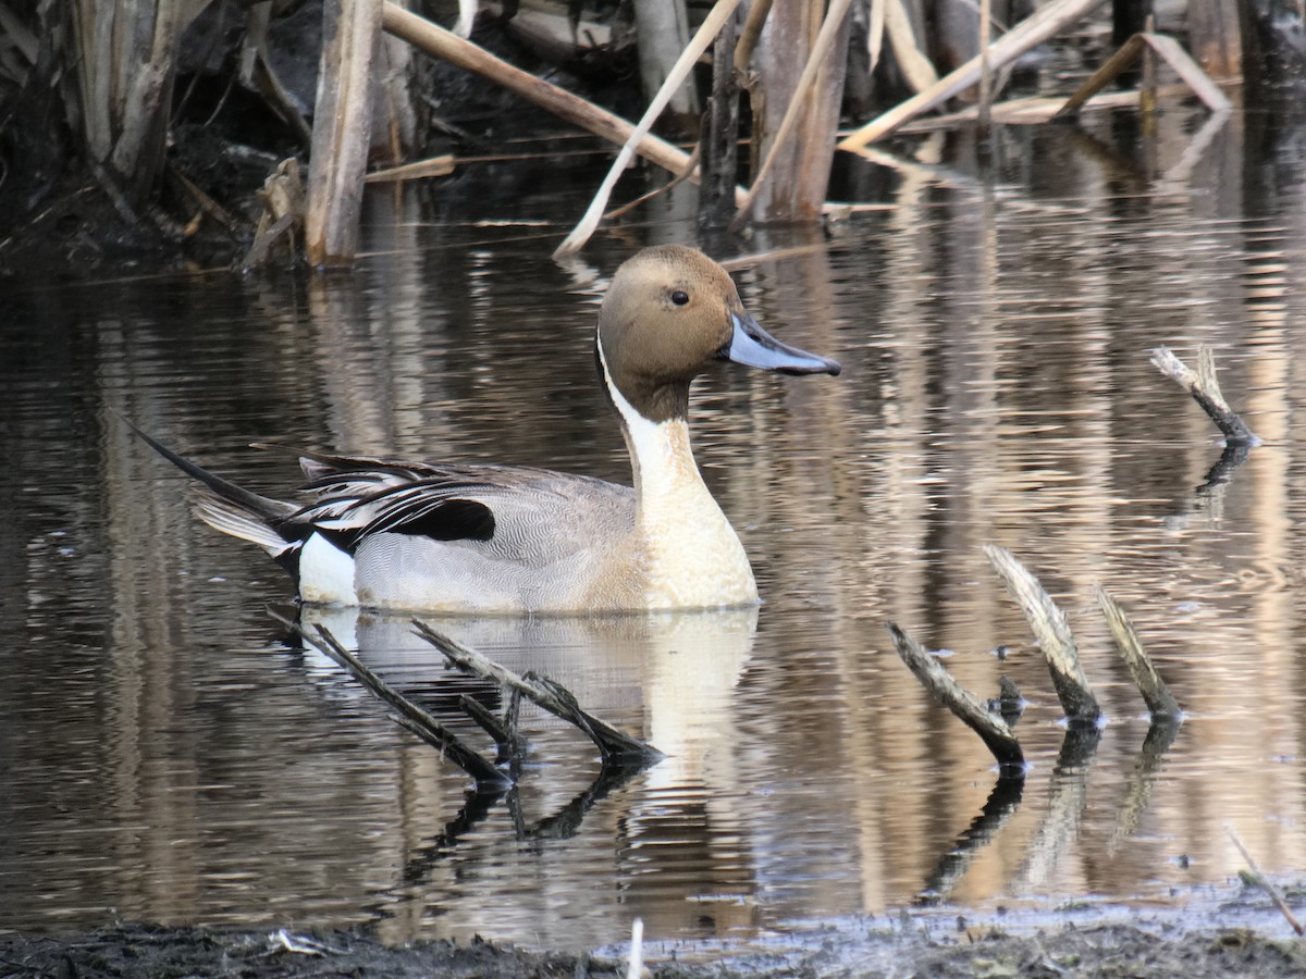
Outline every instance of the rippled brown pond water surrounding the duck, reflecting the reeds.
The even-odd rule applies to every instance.
[[[1148,145],[1106,123],[1010,131],[991,180],[942,138],[916,144],[893,209],[739,272],[768,328],[846,367],[696,390],[756,619],[458,624],[674,756],[572,822],[597,774],[584,743],[532,715],[516,798],[469,804],[464,777],[283,641],[264,611],[289,597],[279,572],[197,526],[184,482],[107,409],[268,491],[296,478],[244,448],[269,437],[624,479],[594,304],[635,247],[692,238],[683,196],[569,269],[547,260],[555,236],[424,227],[415,198],[377,198],[376,255],[350,277],[10,290],[0,603],[22,625],[0,651],[0,927],[368,922],[589,946],[635,916],[656,937],[750,936],[908,905],[944,880],[993,773],[885,620],[956,650],[972,688],[1007,672],[1033,701],[1023,798],[948,901],[1164,901],[1237,872],[1225,824],[1294,871],[1306,210],[1286,136],[1202,123],[1164,115]],[[539,192],[511,217],[565,228],[577,200]],[[1269,440],[1204,491],[1215,431],[1147,359],[1198,342]],[[985,543],[1071,615],[1110,715],[1087,769],[1057,770],[1059,711]],[[1153,771],[1097,583],[1188,711]],[[452,680],[402,628],[347,628],[447,702]]]

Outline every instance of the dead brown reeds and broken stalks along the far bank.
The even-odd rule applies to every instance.
[[[633,155],[670,171],[673,180],[705,185],[700,198],[705,225],[730,223],[741,231],[750,222],[814,223],[835,206],[827,201],[827,188],[836,144],[865,151],[949,101],[978,98],[981,104],[973,108],[985,120],[1011,119],[990,101],[1010,84],[1015,61],[1076,29],[1101,4],[1051,0],[1021,18],[1015,4],[996,3],[977,20],[972,5],[955,0],[930,21],[917,0],[716,0],[695,26],[686,10],[696,8],[683,0],[627,0],[582,16],[582,5],[572,4],[569,37],[567,30],[550,35],[532,3],[483,4],[470,38],[398,4],[368,0],[329,0],[320,8],[279,0],[248,8],[234,0],[64,0],[27,17],[0,4],[0,149],[8,167],[0,197],[22,205],[10,208],[16,228],[0,236],[0,257],[78,215],[88,234],[97,222],[120,225],[119,238],[128,247],[136,238],[180,248],[205,239],[226,241],[248,268],[276,255],[274,243],[293,240],[295,255],[306,255],[313,265],[347,264],[358,245],[368,168],[388,168],[390,179],[431,179],[449,172],[447,162],[422,162],[432,133],[478,138],[447,117],[466,86],[466,76],[458,73],[473,73],[483,86],[512,93],[623,148],[560,253],[581,248],[599,226]],[[1212,78],[1233,80],[1243,68],[1241,43],[1224,37],[1225,27],[1237,22],[1229,16],[1234,3],[1190,0],[1190,5],[1195,60],[1173,38],[1155,31],[1122,35],[1119,52],[1085,87],[1068,102],[1050,103],[1040,117],[1092,108],[1093,91],[1118,81],[1134,61],[1151,65],[1155,57],[1213,112],[1228,111],[1228,98]],[[1117,0],[1115,7],[1119,14],[1134,4]],[[667,18],[663,10],[675,16]],[[289,18],[296,26],[278,30]],[[460,23],[465,31],[468,21]],[[628,55],[632,40],[643,95],[609,84],[613,72],[602,68]],[[285,48],[293,44],[303,48],[287,55]],[[528,47],[535,54],[525,54]],[[313,84],[319,50],[323,70]],[[415,51],[439,59],[444,68],[436,70]],[[539,70],[549,65],[533,61],[538,52],[581,74],[568,85],[546,81]],[[586,87],[582,73],[596,68],[605,78],[598,87],[606,98],[599,101],[607,106],[579,94]],[[696,73],[712,77],[697,101]],[[1155,85],[1156,70],[1144,76]],[[221,94],[202,94],[214,86],[222,87]],[[1144,86],[1132,98],[1145,107],[1153,90]],[[632,94],[633,103],[644,107],[637,125],[613,108],[618,102],[631,104]],[[238,103],[244,111],[232,111]],[[1117,103],[1115,95],[1106,102]],[[208,119],[206,106],[212,106]],[[667,107],[670,116],[663,112]],[[185,159],[184,144],[204,138],[225,112],[239,120],[223,131],[225,141],[257,144],[257,155],[244,161],[252,172],[236,178],[248,181],[243,187],[218,188],[205,175],[178,166]],[[870,121],[840,138],[841,120],[866,115]],[[1030,119],[1028,111],[1021,116]],[[951,124],[965,120],[956,116]],[[518,120],[505,121],[494,136],[500,151],[500,133],[511,133]],[[691,133],[699,149],[691,154],[654,134],[654,127]],[[733,148],[739,140],[747,149],[737,157]],[[76,153],[69,154],[71,148]],[[69,166],[69,157],[82,166]],[[260,218],[244,201],[273,174],[282,183],[291,178],[296,172],[287,164],[291,157],[299,159],[306,185],[278,202],[264,194]],[[440,157],[448,161],[449,154]],[[741,167],[743,158],[747,163]],[[401,164],[407,168],[398,170]],[[743,183],[737,185],[741,175]],[[82,201],[80,208],[73,196]],[[107,206],[91,209],[89,197]],[[296,209],[283,210],[279,205],[286,201],[296,202]],[[251,247],[255,223],[260,227]]]

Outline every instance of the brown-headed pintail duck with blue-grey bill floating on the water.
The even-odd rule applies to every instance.
[[[722,360],[831,376],[838,362],[772,337],[720,264],[678,244],[645,248],[614,273],[594,360],[632,486],[533,466],[295,450],[307,483],[291,503],[132,428],[196,480],[196,516],[268,552],[306,604],[509,615],[756,604],[748,556],[693,459],[690,385]]]

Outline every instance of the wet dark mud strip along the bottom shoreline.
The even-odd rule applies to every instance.
[[[1301,897],[1299,894],[1297,895]],[[1299,976],[1306,944],[1259,892],[1198,910],[1083,910],[1007,928],[959,916],[857,919],[765,944],[662,942],[645,975],[674,976]],[[1126,920],[1121,920],[1122,916]],[[1074,919],[1074,920],[1067,920]],[[1249,924],[1250,922],[1250,924]],[[363,932],[118,924],[0,936],[0,976],[624,976],[626,948],[526,952],[473,940],[390,948]]]

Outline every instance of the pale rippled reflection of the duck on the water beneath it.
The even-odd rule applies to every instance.
[[[500,794],[469,794],[443,831],[432,834],[430,825],[414,828],[421,839],[404,855],[405,886],[439,876],[461,837],[487,820],[503,818],[498,808],[503,801],[517,824],[518,842],[549,845],[579,835],[594,839],[601,850],[615,846],[618,859],[631,864],[619,873],[628,890],[626,901],[650,928],[684,932],[703,931],[708,924],[707,932],[716,933],[754,924],[754,903],[743,899],[754,886],[754,871],[744,821],[737,812],[741,735],[734,697],[752,654],[757,611],[750,606],[637,616],[423,616],[436,632],[500,666],[563,683],[582,709],[643,736],[666,757],[629,782],[633,770],[602,770],[579,732],[565,734],[565,744],[575,745],[571,752],[559,745],[562,739],[546,735],[549,745],[530,751],[535,771],[524,777],[522,798],[516,790],[507,800]],[[409,616],[304,607],[302,625],[310,632],[317,625],[328,628],[388,683],[441,722],[460,726],[468,740],[478,732],[466,722],[457,697],[503,704],[498,688],[447,667],[444,657],[415,633]],[[333,691],[341,689],[342,671],[334,662],[312,651],[307,662],[311,675]],[[360,701],[367,698],[353,685],[345,689],[357,691]],[[539,728],[534,721],[522,726],[526,740],[533,741]],[[486,744],[483,736],[477,741],[477,747]],[[411,754],[402,764],[421,766]],[[406,799],[405,811],[448,812],[448,790],[417,773],[414,769],[400,779],[406,791],[440,798]],[[560,794],[560,786],[573,788]],[[542,815],[522,818],[522,809],[539,809],[539,796],[549,798]],[[601,801],[599,811],[592,812]],[[603,838],[610,834],[616,839]],[[730,854],[716,852],[722,837],[735,839]],[[475,852],[479,856],[479,850]],[[464,854],[460,862],[466,859]],[[491,847],[485,859],[503,859],[503,854]],[[648,889],[646,905],[640,901],[641,889]],[[682,899],[667,901],[677,890]],[[710,902],[710,907],[703,903],[704,894],[716,893],[733,898]]]

